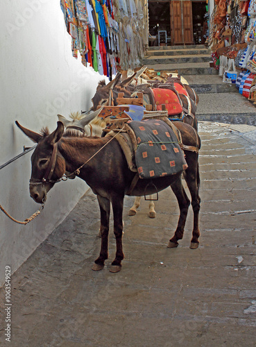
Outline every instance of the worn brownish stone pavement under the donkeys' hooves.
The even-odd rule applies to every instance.
[[[200,246],[185,237],[167,248],[178,220],[171,189],[148,218],[142,202],[123,214],[125,259],[119,273],[91,270],[99,255],[99,208],[88,191],[12,276],[11,342],[1,346],[256,346],[255,127],[199,124]],[[53,188],[54,189],[54,188]],[[187,188],[186,188],[187,189]],[[112,232],[111,232],[112,235]],[[1,289],[1,318],[4,291]]]

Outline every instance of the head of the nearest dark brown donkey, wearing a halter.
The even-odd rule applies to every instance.
[[[47,128],[42,130],[42,133],[35,133],[21,126],[18,121],[15,123],[26,136],[33,142],[37,142],[31,156],[29,192],[36,203],[43,203],[47,192],[53,187],[56,180],[65,174],[65,160],[57,151],[58,142],[64,133],[64,126],[62,122],[58,121],[56,130],[50,134]]]

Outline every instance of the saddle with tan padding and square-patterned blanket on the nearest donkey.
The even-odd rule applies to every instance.
[[[105,129],[117,139],[129,169],[139,178],[158,178],[187,169],[180,132],[167,116],[167,111],[144,111],[142,121],[118,119]]]

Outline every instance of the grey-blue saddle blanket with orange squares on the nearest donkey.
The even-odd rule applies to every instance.
[[[159,178],[187,169],[173,130],[159,119],[128,121],[137,139],[135,162],[139,178]]]

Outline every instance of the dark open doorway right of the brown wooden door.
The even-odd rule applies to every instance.
[[[192,1],[193,38],[195,44],[204,44],[207,31],[206,1]]]

